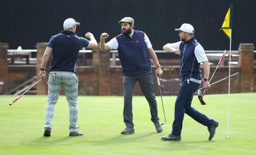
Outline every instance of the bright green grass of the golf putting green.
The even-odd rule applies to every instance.
[[[227,95],[205,95],[207,105],[197,97],[192,106],[219,121],[213,140],[207,127],[184,118],[182,141],[164,142],[174,119],[175,96],[164,96],[168,123],[156,133],[144,97],[134,97],[135,134],[121,135],[123,98],[79,96],[78,126],[84,136],[68,136],[68,104],[59,97],[51,137],[43,137],[47,96],[24,95],[9,106],[15,96],[0,96],[0,154],[256,154],[256,93],[230,95],[229,138],[227,139]],[[164,121],[160,97],[158,113]]]

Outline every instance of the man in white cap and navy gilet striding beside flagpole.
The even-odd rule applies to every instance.
[[[201,125],[207,126],[209,131],[208,139],[211,140],[219,123],[213,119],[209,119],[191,107],[193,93],[195,93],[201,83],[200,63],[203,63],[203,88],[209,89],[210,87],[208,81],[209,62],[203,47],[193,37],[194,29],[192,25],[184,23],[180,28],[176,28],[175,30],[180,31],[180,42],[166,44],[163,48],[166,52],[175,52],[175,54],[182,56],[180,69],[182,87],[175,103],[172,133],[162,137],[162,140],[181,140],[184,113]]]

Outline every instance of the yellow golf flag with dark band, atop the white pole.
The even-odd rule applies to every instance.
[[[229,39],[231,37],[232,17],[233,17],[233,5],[229,7],[229,10],[227,11],[227,14],[225,16],[223,25],[221,26],[221,30],[225,32],[225,34],[229,37]]]

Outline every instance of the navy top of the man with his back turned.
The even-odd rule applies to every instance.
[[[53,60],[51,60],[50,71],[75,72],[80,37],[70,30],[63,30],[53,36],[53,39]]]

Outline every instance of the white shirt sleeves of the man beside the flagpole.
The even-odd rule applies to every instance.
[[[180,49],[180,43],[182,43],[182,41],[174,42],[170,45],[172,46],[172,48]],[[201,44],[195,46],[195,58],[197,59],[198,63],[205,62],[208,60]]]

